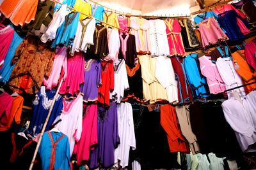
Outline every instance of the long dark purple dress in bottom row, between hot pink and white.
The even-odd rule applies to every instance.
[[[117,107],[111,102],[109,108],[98,106],[97,118],[98,143],[90,155],[90,169],[98,166],[102,168],[113,166],[114,150],[120,143],[118,136]]]

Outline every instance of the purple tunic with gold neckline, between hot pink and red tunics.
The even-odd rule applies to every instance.
[[[100,60],[84,60],[84,83],[80,85],[80,92],[83,93],[83,101],[86,103],[98,100],[98,87],[101,85],[100,71]]]

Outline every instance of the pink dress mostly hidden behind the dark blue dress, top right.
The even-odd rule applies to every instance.
[[[220,15],[221,13],[225,12],[225,11],[230,11],[230,10],[234,10],[236,11],[236,13],[241,17],[241,18],[246,18],[246,15],[244,15],[244,13],[241,13],[241,11],[237,10],[236,8],[234,8],[234,6],[232,6],[232,4],[224,4],[223,6],[218,6],[215,10],[214,13],[216,13],[216,15]],[[243,35],[249,34],[251,31],[244,25],[243,21],[240,18],[236,18],[236,23],[239,26],[241,32]]]

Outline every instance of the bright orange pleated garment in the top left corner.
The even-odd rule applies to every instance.
[[[38,0],[5,0],[0,11],[9,18],[14,25],[23,26],[35,20]]]

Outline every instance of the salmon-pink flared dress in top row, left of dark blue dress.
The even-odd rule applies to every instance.
[[[198,25],[204,47],[228,40],[227,35],[222,31],[214,17],[209,17],[207,20],[199,22]]]

